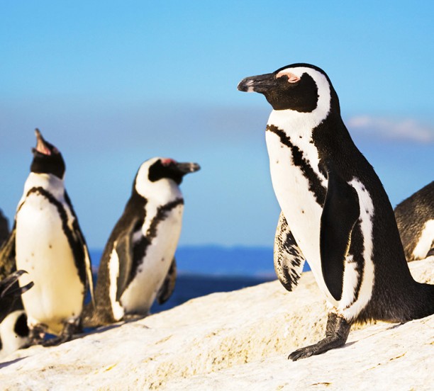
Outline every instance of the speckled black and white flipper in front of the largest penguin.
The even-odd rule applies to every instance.
[[[291,233],[283,212],[280,212],[274,237],[274,271],[286,290],[299,283],[304,266],[304,256]]]

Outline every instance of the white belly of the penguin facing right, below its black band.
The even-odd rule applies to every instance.
[[[121,296],[125,312],[147,314],[164,282],[181,234],[183,205],[171,210],[157,225],[157,234],[128,288]]]

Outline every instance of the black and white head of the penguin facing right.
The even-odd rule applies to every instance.
[[[173,159],[154,157],[144,162],[135,176],[134,188],[140,196],[178,188],[184,175],[198,171],[197,163],[179,163]]]

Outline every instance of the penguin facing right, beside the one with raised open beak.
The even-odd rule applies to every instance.
[[[155,298],[162,304],[170,297],[184,210],[179,185],[184,175],[199,169],[196,163],[161,157],[140,165],[101,256],[95,307],[87,307],[86,327],[144,317]]]

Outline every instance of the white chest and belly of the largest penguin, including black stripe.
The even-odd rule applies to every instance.
[[[327,181],[318,169],[318,151],[308,140],[306,143],[301,140],[298,145],[284,144],[274,132],[267,131],[266,140],[272,184],[280,208],[319,288],[333,300],[321,270],[320,198],[325,197]]]

